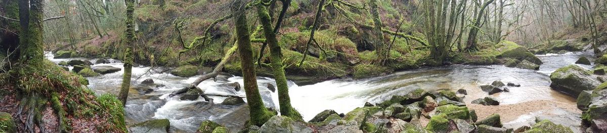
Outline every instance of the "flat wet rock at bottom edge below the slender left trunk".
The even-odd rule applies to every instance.
[[[137,123],[129,128],[131,132],[169,132],[168,119],[149,120]]]

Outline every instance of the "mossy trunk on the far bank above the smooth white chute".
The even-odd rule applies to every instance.
[[[371,16],[373,16],[373,35],[375,37],[373,44],[377,50],[380,60],[384,60],[383,58],[389,53],[384,45],[384,33],[381,31],[383,25],[381,24],[381,18],[379,18],[379,7],[377,4],[377,0],[371,0],[369,2],[371,6]]]

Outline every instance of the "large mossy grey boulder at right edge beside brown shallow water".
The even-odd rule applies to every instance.
[[[592,90],[601,83],[586,70],[577,65],[569,65],[557,69],[550,75],[552,89],[577,97],[583,90]]]

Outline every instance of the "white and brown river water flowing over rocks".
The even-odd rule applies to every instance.
[[[52,53],[47,53],[46,56],[55,63],[69,60],[89,60],[95,63],[97,60],[89,58],[53,59]],[[498,113],[502,116],[504,126],[518,128],[529,125],[536,118],[548,118],[579,132],[581,111],[575,107],[575,99],[552,90],[549,87],[551,83],[549,75],[560,67],[574,64],[581,56],[586,56],[591,61],[594,60],[590,52],[538,55],[544,64],[537,71],[502,65],[454,65],[407,70],[363,80],[328,80],[305,86],[298,86],[289,81],[289,91],[291,104],[303,115],[304,120],[310,120],[325,109],[333,109],[345,114],[356,107],[362,107],[367,101],[379,103],[392,95],[404,95],[415,89],[429,91],[466,89],[468,95],[465,95],[464,101],[470,109],[476,110],[479,119]],[[586,69],[592,67],[578,65]],[[123,69],[123,63],[117,60],[93,66],[113,66]],[[168,97],[172,91],[185,87],[200,75],[190,78],[175,77],[168,72],[163,72],[166,70],[167,68],[163,67],[151,68],[148,66],[132,69],[132,84],[134,85],[129,92],[129,100],[125,107],[127,125],[167,118],[171,121],[171,132],[194,132],[204,120],[213,120],[228,128],[240,129],[248,118],[246,105],[221,105],[219,103],[223,101],[222,97],[211,97],[215,104],[209,104],[203,98],[195,101],[182,101],[177,97]],[[122,74],[123,70],[120,70],[98,77],[89,77],[87,78],[90,83],[88,87],[98,95],[107,93],[117,95],[120,91]],[[148,78],[153,79],[155,85],[140,84],[141,81]],[[243,84],[242,77],[220,75],[218,79],[218,81],[203,81],[198,87],[205,90],[206,94],[245,95],[244,90],[236,92],[225,84],[233,82]],[[517,83],[521,87],[510,87],[510,92],[493,95],[488,95],[478,87],[490,84],[495,80]],[[277,93],[264,85],[270,83],[276,86],[274,80],[258,77],[257,83],[265,105],[277,109]],[[148,93],[141,91],[146,89],[152,91]],[[496,98],[500,101],[500,105],[470,104],[470,101],[483,97]]]

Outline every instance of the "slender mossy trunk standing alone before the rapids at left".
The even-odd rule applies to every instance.
[[[120,94],[118,100],[122,101],[123,105],[126,105],[126,99],[129,95],[129,88],[131,87],[131,70],[133,69],[133,52],[131,50],[135,42],[135,19],[133,18],[133,12],[135,11],[135,0],[125,0],[126,3],[126,36],[124,38],[124,44],[126,45],[126,52],[124,52],[124,75],[122,78],[122,86],[120,88]]]

